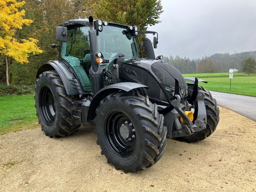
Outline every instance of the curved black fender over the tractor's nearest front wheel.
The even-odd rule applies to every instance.
[[[88,111],[82,111],[82,123],[94,120],[94,117],[96,116],[95,111],[99,107],[100,101],[106,98],[108,95],[119,91],[130,92],[137,88],[148,89],[148,86],[139,83],[124,82],[104,87],[94,95]]]

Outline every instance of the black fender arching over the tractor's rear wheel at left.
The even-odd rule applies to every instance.
[[[68,95],[81,95],[83,91],[72,69],[61,60],[52,60],[43,64],[37,71],[36,78],[45,71],[58,72]]]

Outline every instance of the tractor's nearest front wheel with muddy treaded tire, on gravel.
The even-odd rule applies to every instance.
[[[110,94],[100,102],[96,114],[97,144],[116,169],[137,172],[162,157],[167,129],[163,126],[164,116],[148,96],[127,92]]]

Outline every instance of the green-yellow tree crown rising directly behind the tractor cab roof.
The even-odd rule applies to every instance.
[[[94,5],[97,18],[124,25],[137,25],[140,30],[160,23],[162,9],[161,0],[99,0]]]

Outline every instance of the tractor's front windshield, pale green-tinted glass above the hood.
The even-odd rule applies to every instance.
[[[137,57],[131,33],[124,28],[104,26],[98,36],[98,50],[105,59],[123,54],[124,57]]]

